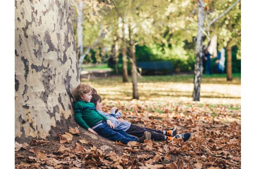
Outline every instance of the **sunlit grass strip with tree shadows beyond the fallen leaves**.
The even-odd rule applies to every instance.
[[[192,102],[194,75],[143,76],[139,78],[140,100]],[[86,81],[94,87],[103,99],[132,100],[132,83],[123,83],[122,77],[102,77]],[[241,104],[241,74],[233,74],[233,81],[226,80],[226,74],[204,75],[201,84],[202,104]]]

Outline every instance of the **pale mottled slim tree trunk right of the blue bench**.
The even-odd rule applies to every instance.
[[[201,4],[204,4],[203,0],[199,0]],[[204,8],[198,2],[198,28],[197,28],[197,36],[196,36],[196,62],[195,62],[195,71],[194,71],[194,91],[193,91],[193,100],[199,101],[200,100],[200,85],[202,80],[203,74],[203,44],[202,44],[202,37],[203,32],[202,28],[204,27]]]

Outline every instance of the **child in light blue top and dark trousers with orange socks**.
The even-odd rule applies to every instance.
[[[101,103],[101,98],[98,94],[92,93],[91,102],[95,104],[95,107],[100,114],[108,117],[108,119],[115,125],[114,130],[116,131],[124,130],[127,134],[137,136],[137,137],[143,136],[144,132],[148,131],[151,133],[151,138],[156,141],[164,141],[164,140],[167,141],[167,140],[173,140],[175,138],[182,138],[183,141],[187,141],[191,136],[190,133],[176,135],[176,128],[167,129],[167,130],[156,130],[156,129],[149,129],[146,127],[137,126],[128,121],[125,121],[122,118],[117,120],[117,117],[122,116],[122,113],[120,111],[117,112],[118,110],[117,107],[113,107],[111,109],[110,111],[111,114],[107,114],[102,110],[100,110],[102,107],[102,103]]]

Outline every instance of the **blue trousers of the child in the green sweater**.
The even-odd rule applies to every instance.
[[[133,137],[126,134],[124,130],[114,131],[108,126],[106,122],[93,130],[102,137],[108,138],[109,140],[112,141],[120,141],[123,144],[127,144],[129,141],[138,140],[137,137]]]

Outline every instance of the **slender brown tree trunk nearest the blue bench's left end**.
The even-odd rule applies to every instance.
[[[138,93],[138,76],[137,76],[137,66],[135,57],[135,45],[133,39],[133,31],[131,25],[129,24],[129,38],[130,38],[130,53],[131,53],[131,67],[132,67],[132,96],[133,99],[139,99]]]

